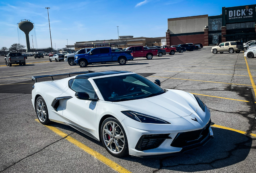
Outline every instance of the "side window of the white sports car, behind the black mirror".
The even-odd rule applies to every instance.
[[[70,87],[70,84],[71,84],[71,87]],[[93,89],[93,86],[91,85],[91,82],[87,79],[75,78],[73,82],[70,80],[69,87],[76,92],[85,92],[89,94],[90,98],[92,99],[97,98],[97,95]]]

